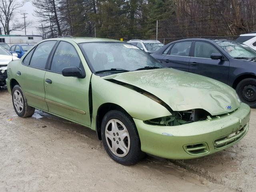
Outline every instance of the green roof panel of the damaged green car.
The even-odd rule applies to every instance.
[[[114,39],[106,39],[106,38],[94,38],[94,37],[59,37],[59,38],[52,38],[47,40],[72,40],[76,43],[88,43],[88,42],[121,42],[119,40]]]

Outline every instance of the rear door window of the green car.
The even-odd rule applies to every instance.
[[[45,41],[38,44],[31,58],[30,66],[44,69],[55,43],[56,41]]]

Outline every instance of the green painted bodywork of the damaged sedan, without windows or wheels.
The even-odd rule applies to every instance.
[[[21,60],[10,62],[6,83],[11,93],[13,82],[18,82],[30,106],[98,131],[99,109],[106,104],[118,105],[133,118],[141,150],[171,159],[212,154],[235,144],[248,132],[250,108],[241,104],[235,90],[226,84],[171,68],[101,77],[92,72],[78,44],[119,41],[99,38],[52,40],[66,41],[74,46],[86,77],[65,77],[25,66],[22,61],[27,52]],[[46,83],[46,79],[53,83]],[[208,112],[207,119],[178,126],[147,123],[155,118],[172,116],[172,112],[193,109]],[[230,136],[234,133],[236,138]]]

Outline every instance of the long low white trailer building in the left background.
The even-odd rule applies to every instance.
[[[42,41],[40,35],[0,35],[0,42],[11,44],[36,44]]]

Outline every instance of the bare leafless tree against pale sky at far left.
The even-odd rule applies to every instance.
[[[21,8],[25,2],[26,1],[0,0],[0,22],[4,28],[4,34],[8,35],[12,31],[24,29],[24,24],[14,23],[10,26],[10,22],[14,19],[14,13],[16,13],[18,8]]]

